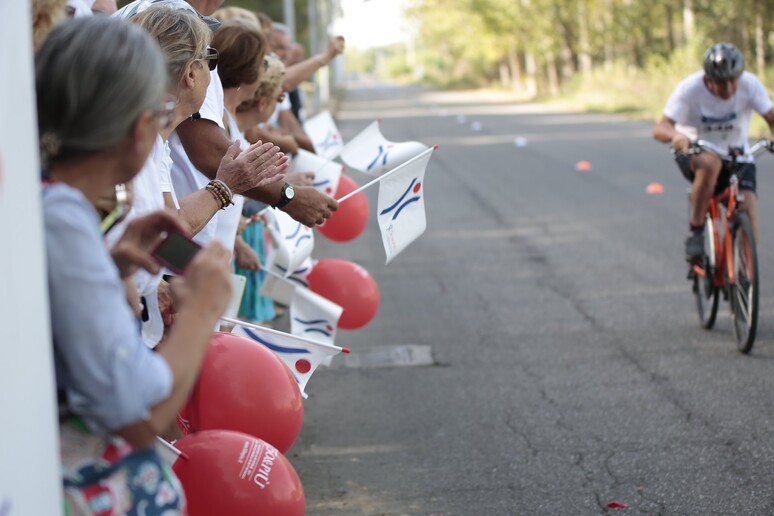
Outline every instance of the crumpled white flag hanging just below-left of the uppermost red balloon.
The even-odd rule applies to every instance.
[[[284,211],[268,210],[264,216],[272,242],[268,269],[288,277],[312,254],[314,232]]]

